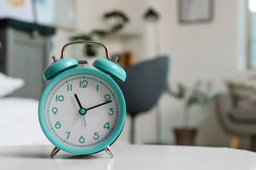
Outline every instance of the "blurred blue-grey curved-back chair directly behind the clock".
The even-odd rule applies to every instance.
[[[125,97],[126,111],[131,115],[130,142],[134,144],[135,117],[150,110],[165,90],[169,57],[157,57],[125,68],[125,82],[116,81]]]

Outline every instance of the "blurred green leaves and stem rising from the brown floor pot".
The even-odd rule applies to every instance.
[[[207,105],[212,101],[214,95],[211,93],[212,82],[205,83],[202,89],[203,82],[197,81],[193,88],[187,88],[182,83],[177,84],[177,90],[174,91],[169,85],[166,87],[166,92],[177,99],[185,100],[185,108],[183,114],[183,125],[189,126],[190,114],[189,110],[193,105]]]

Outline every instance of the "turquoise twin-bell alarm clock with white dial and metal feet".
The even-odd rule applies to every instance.
[[[87,44],[105,48],[106,59],[93,62],[92,68],[77,68],[87,64],[72,58],[64,59],[70,45]],[[77,41],[63,46],[61,57],[44,71],[51,80],[41,96],[39,122],[44,134],[59,150],[73,154],[92,154],[105,150],[112,158],[110,145],[115,142],[125,122],[125,99],[112,78],[125,81],[125,71],[109,57],[108,48],[98,42]]]

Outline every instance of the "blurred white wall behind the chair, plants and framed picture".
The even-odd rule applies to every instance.
[[[122,0],[125,1],[125,0]],[[100,17],[107,10],[115,8],[115,0],[77,0],[77,27],[82,31],[90,31],[92,28],[104,28]],[[137,0],[129,1],[130,8],[136,6],[138,18],[145,11],[146,6],[153,6],[161,14],[161,46],[162,54],[172,56],[169,82],[183,82],[192,85],[198,79],[212,79],[216,91],[225,91],[222,80],[227,77],[234,77],[241,72],[237,71],[237,5],[235,0],[215,0],[215,14],[212,23],[197,25],[180,25],[177,23],[177,0],[148,0],[138,4]],[[121,5],[120,5],[121,4]],[[127,6],[127,3],[126,5]],[[127,9],[127,8],[126,8]],[[136,18],[134,11],[130,11],[133,18]],[[129,15],[129,14],[128,14]],[[140,23],[140,20],[136,20]],[[138,27],[138,25],[136,25]],[[141,30],[144,32],[145,41],[143,53],[137,61],[153,57],[152,34],[150,28],[141,21]],[[68,34],[60,32],[55,37],[55,47],[58,48],[58,55],[61,45]],[[61,45],[60,45],[61,44]],[[108,45],[108,44],[106,44]],[[113,47],[111,47],[114,49]],[[111,50],[110,48],[110,50]],[[55,51],[55,49],[54,49]],[[104,51],[103,51],[104,52]],[[72,54],[70,54],[72,56]],[[162,111],[162,141],[174,144],[172,128],[181,125],[183,102],[172,99],[163,94],[160,99]],[[207,108],[192,108],[191,125],[199,127],[198,145],[228,147],[229,136],[221,129],[215,117],[214,105]],[[143,114],[136,121],[136,142],[154,142],[155,140],[155,109]],[[129,117],[125,122],[125,128],[119,140],[128,140]],[[241,141],[241,148],[247,148],[248,139]]]

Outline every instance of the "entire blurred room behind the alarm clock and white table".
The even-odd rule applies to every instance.
[[[256,0],[0,0],[0,144],[50,144],[37,112],[44,69],[67,42],[91,40],[127,73],[116,143],[256,151],[255,28]],[[93,68],[105,51],[75,45],[65,57]]]

